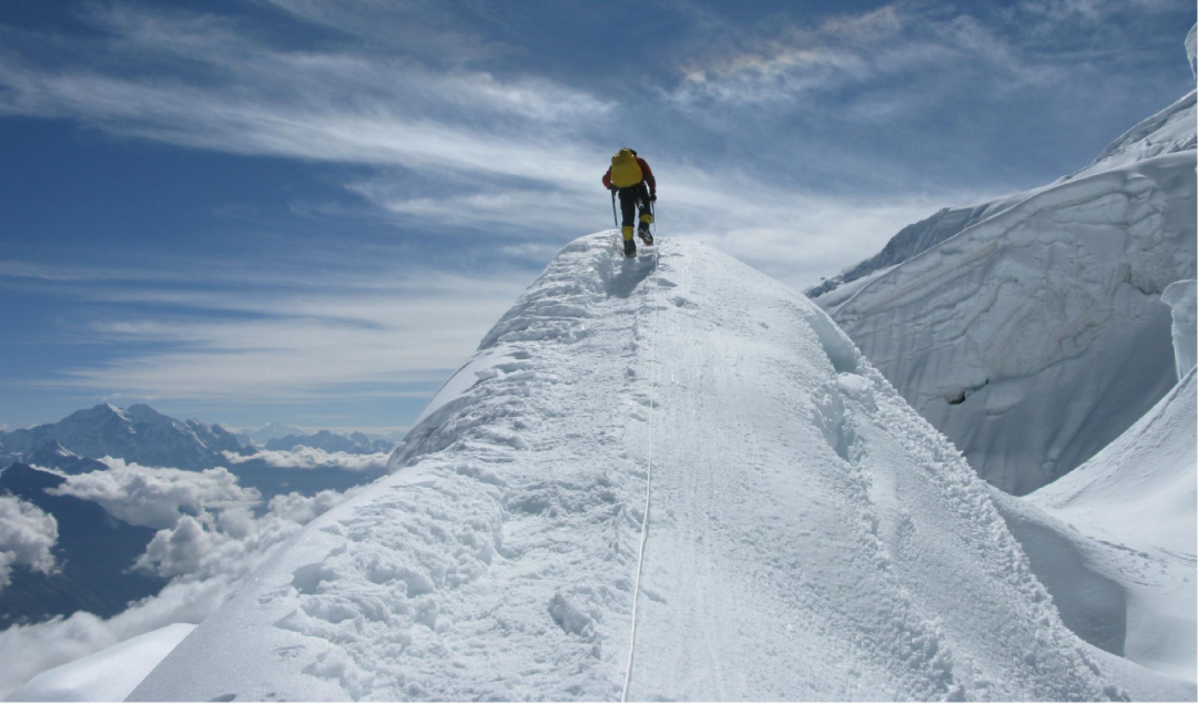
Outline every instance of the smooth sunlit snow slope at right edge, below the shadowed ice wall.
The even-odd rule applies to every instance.
[[[1127,657],[1198,681],[1198,375],[1028,500],[1118,548]]]

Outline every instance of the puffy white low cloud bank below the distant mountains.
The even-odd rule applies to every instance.
[[[255,515],[261,504],[259,492],[240,486],[226,469],[184,472],[119,460],[111,463],[110,472],[68,478],[58,492],[97,502],[127,522],[158,528],[134,569],[170,582],[157,595],[110,619],[77,612],[0,632],[0,662],[5,663],[0,668],[0,700],[59,664],[169,624],[200,623],[305,523],[361,491],[280,494],[267,503],[265,512]],[[26,536],[22,542],[13,542],[23,546],[19,553],[13,550],[23,556],[20,564],[50,569],[49,547],[58,535],[54,517],[0,497],[0,535],[18,535],[8,530],[10,522],[30,527],[19,533]],[[4,546],[0,544],[0,550],[7,550]]]

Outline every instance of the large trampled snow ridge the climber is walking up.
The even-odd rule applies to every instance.
[[[394,474],[129,702],[1198,698],[1066,629],[991,490],[815,304],[616,238],[567,247]]]

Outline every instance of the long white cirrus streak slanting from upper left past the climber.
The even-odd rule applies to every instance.
[[[280,5],[311,22],[349,22],[315,4]],[[369,166],[370,175],[345,188],[397,223],[490,230],[525,242],[562,242],[605,225],[598,177],[615,142],[600,140],[619,110],[610,98],[539,77],[432,69],[410,56],[280,50],[219,18],[177,20],[174,13],[116,7],[95,19],[117,37],[110,51],[186,60],[202,69],[202,79],[128,75],[116,66],[49,71],[0,60],[0,84],[10,86],[0,111],[72,117],[198,148]],[[370,5],[356,17],[375,12],[387,11]],[[653,163],[668,198],[664,204],[688,213],[677,225],[703,223],[707,233],[743,239],[738,249],[750,261],[764,259],[742,237],[746,232],[800,223],[807,237],[840,241],[845,229],[837,216],[866,208],[881,229],[855,236],[873,247],[906,224],[890,219],[897,216],[893,206],[869,199],[792,198],[745,172],[727,176],[719,164],[710,168],[727,177],[709,177],[670,154],[654,156]],[[736,193],[754,200],[730,198]],[[813,200],[823,205],[812,208]],[[901,217],[930,207],[920,201],[919,212],[910,207]],[[824,219],[816,221],[813,212]],[[791,259],[810,263],[807,283],[815,267],[824,266]]]

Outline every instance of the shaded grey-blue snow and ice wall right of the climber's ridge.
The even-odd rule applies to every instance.
[[[830,305],[987,480],[1027,493],[1173,386],[1167,285],[1198,261],[1198,152],[1060,182]]]

